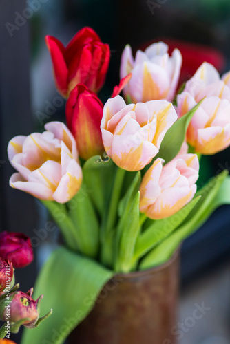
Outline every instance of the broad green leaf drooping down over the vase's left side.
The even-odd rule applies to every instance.
[[[43,294],[41,314],[53,314],[35,329],[23,332],[21,344],[62,344],[94,307],[113,272],[96,261],[59,248],[43,266],[34,288]]]

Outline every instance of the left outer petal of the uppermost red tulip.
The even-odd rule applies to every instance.
[[[63,96],[67,96],[68,69],[65,63],[65,47],[52,36],[45,36],[45,43],[52,58],[56,88]]]

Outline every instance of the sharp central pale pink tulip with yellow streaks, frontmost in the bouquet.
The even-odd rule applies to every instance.
[[[105,151],[122,169],[139,171],[158,153],[176,119],[174,107],[166,100],[126,105],[121,96],[109,99],[101,121]]]

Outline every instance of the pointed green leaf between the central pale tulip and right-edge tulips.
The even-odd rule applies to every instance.
[[[160,151],[154,158],[162,158],[165,160],[165,164],[171,161],[179,153],[182,143],[185,141],[185,135],[187,127],[191,118],[194,116],[194,113],[202,103],[202,100],[194,106],[187,114],[180,117],[174,125],[169,128],[165,137],[163,138],[162,143],[160,144]]]

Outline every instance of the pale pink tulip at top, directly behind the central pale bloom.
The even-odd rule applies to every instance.
[[[128,96],[134,103],[174,99],[182,56],[178,49],[171,57],[167,51],[165,43],[154,43],[145,52],[138,50],[134,59],[131,47],[126,45],[121,56],[120,77],[132,72],[132,78],[123,90],[125,97]]]

